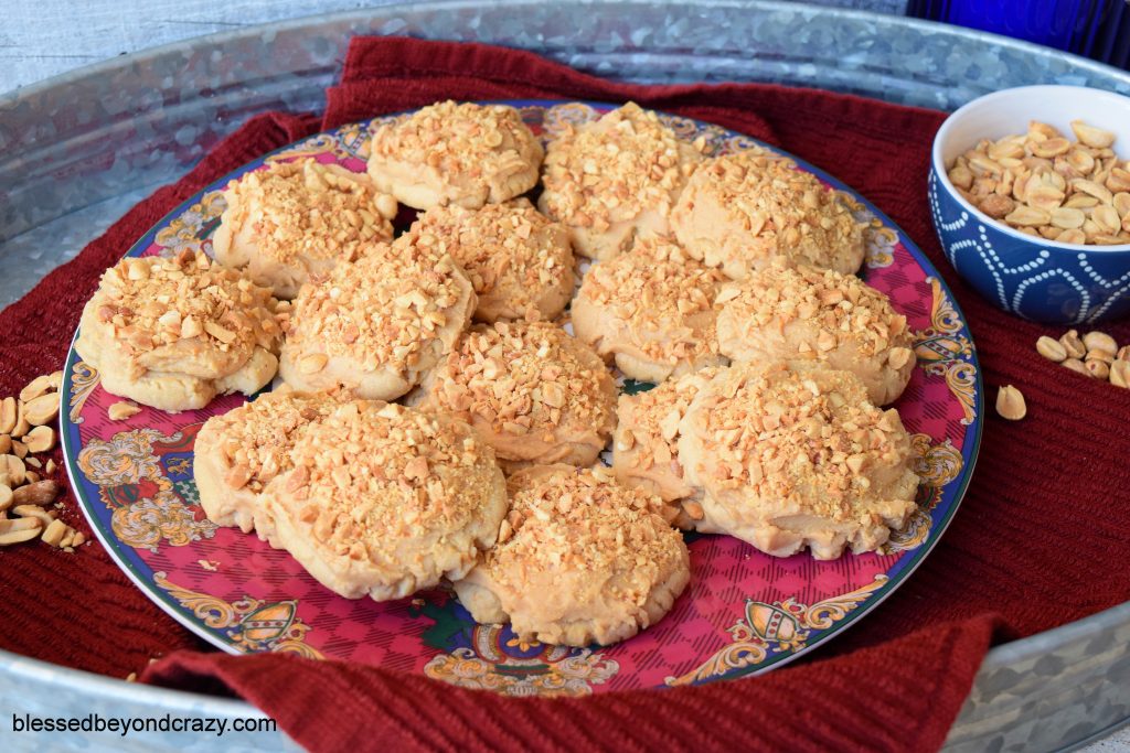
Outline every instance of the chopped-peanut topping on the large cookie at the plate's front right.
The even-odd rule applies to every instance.
[[[784,364],[721,371],[680,435],[680,457],[695,458],[688,471],[707,493],[832,520],[889,499],[889,490],[872,488],[873,474],[901,467],[909,453],[898,413],[872,405],[853,374]]]

